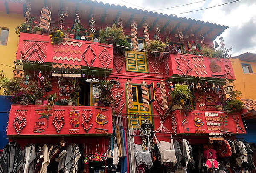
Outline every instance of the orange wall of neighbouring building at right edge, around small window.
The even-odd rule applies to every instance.
[[[236,77],[234,90],[242,92],[241,98],[256,99],[256,62],[241,61],[236,58],[231,60],[231,64]],[[253,73],[244,74],[242,64],[250,64]]]

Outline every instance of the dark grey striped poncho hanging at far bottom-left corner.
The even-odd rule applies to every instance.
[[[22,152],[16,141],[9,142],[0,157],[1,173],[18,173],[22,169]]]

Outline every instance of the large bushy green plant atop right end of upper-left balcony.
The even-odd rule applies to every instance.
[[[130,47],[130,43],[126,40],[123,28],[117,28],[115,23],[112,27],[107,26],[104,30],[101,29],[99,31],[99,42]]]

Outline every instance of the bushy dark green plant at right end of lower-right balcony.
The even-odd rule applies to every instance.
[[[237,99],[228,99],[224,104],[223,110],[227,113],[241,112],[244,108],[243,102]]]

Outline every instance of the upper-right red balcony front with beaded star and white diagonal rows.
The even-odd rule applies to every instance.
[[[220,78],[235,80],[230,60],[213,59],[191,54],[169,55],[169,76]]]

